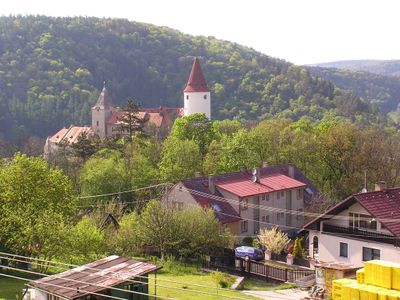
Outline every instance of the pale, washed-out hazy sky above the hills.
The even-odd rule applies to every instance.
[[[400,59],[398,0],[1,0],[0,15],[127,18],[297,63]]]

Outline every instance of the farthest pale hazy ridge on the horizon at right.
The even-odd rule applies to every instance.
[[[400,60],[342,60],[319,63],[312,66],[400,76]]]

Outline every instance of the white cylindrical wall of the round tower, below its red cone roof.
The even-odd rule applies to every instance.
[[[211,119],[211,93],[210,92],[191,92],[183,93],[184,115],[188,116],[195,113],[204,113]],[[206,97],[206,99],[204,99]]]

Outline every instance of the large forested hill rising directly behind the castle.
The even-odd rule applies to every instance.
[[[115,105],[182,106],[193,57],[212,89],[213,118],[372,120],[358,97],[235,43],[119,19],[0,18],[0,138],[88,124],[103,81]]]

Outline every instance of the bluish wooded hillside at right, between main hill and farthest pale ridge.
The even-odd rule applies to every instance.
[[[395,111],[400,103],[400,77],[363,71],[307,67],[309,72],[329,80],[344,90],[351,90],[384,113]]]

